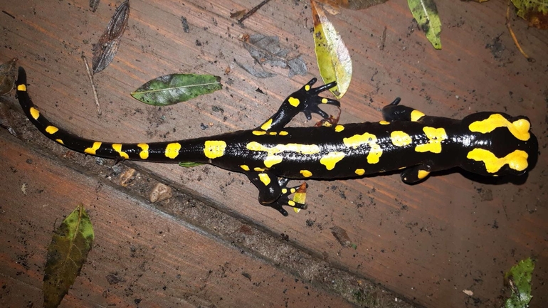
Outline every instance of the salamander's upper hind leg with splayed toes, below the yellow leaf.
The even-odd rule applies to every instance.
[[[263,122],[263,124],[260,124],[258,129],[263,131],[282,129],[299,112],[304,113],[308,120],[312,119],[312,113],[317,113],[324,119],[328,119],[330,116],[320,109],[320,105],[340,107],[340,103],[338,100],[321,97],[319,94],[334,87],[337,83],[332,82],[320,87],[312,87],[316,81],[316,78],[312,78],[306,85],[289,95],[283,101],[280,109],[272,117]]]

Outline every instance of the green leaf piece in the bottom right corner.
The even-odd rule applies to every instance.
[[[512,296],[506,299],[505,308],[526,308],[532,299],[531,277],[534,261],[528,257],[512,266],[505,274],[505,284],[512,290]]]

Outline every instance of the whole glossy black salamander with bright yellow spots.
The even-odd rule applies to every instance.
[[[460,167],[475,174],[524,174],[537,159],[537,138],[527,117],[478,112],[463,120],[424,115],[399,104],[383,108],[383,121],[285,127],[295,115],[312,112],[325,119],[320,105],[339,107],[318,96],[335,83],[312,87],[316,79],[286,98],[259,127],[174,142],[111,143],[70,134],[36,109],[19,68],[17,97],[31,122],[48,138],[85,154],[111,159],[162,163],[204,163],[242,172],[257,186],[259,202],[288,215],[283,206],[306,208],[306,184],[289,188],[289,179],[345,179],[401,169],[412,184],[432,171]],[[291,198],[290,196],[293,196]]]

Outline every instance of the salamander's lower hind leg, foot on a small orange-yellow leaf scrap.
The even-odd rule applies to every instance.
[[[259,203],[263,206],[270,206],[283,216],[288,216],[283,206],[290,206],[295,209],[306,209],[306,188],[307,184],[300,186],[287,187],[289,179],[280,178],[268,171],[247,172],[246,175],[250,181],[257,186],[259,190]],[[293,194],[293,199],[289,196]]]

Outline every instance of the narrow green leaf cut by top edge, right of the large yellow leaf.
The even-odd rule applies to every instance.
[[[434,0],[407,0],[413,18],[436,49],[441,49],[441,20]]]

